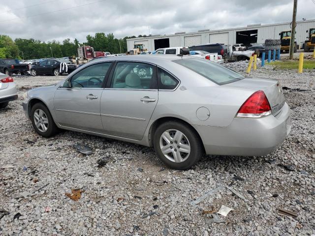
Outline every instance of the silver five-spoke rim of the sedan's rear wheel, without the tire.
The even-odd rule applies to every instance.
[[[187,136],[177,129],[168,129],[162,133],[159,146],[163,155],[172,162],[186,161],[190,154]]]

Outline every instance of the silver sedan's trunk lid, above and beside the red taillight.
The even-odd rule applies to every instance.
[[[283,89],[280,85],[280,82],[277,80],[252,77],[226,84],[224,86],[240,89],[251,89],[252,93],[258,90],[264,91],[274,116],[276,116],[284,106]]]

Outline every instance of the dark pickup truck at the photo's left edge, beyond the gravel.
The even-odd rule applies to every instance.
[[[27,71],[30,70],[28,64],[20,64],[18,60],[15,59],[0,59],[0,72],[6,75],[12,75],[21,73],[21,75],[28,74]]]

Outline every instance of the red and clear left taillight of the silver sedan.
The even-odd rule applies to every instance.
[[[236,117],[259,118],[271,114],[271,107],[266,94],[262,91],[254,92],[241,106]]]

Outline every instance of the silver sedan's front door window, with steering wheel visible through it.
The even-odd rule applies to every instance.
[[[90,65],[71,78],[71,88],[102,88],[111,62]]]

